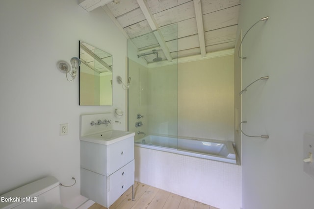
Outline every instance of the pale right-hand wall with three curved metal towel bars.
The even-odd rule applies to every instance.
[[[243,209],[312,209],[314,178],[303,172],[303,137],[314,134],[313,0],[243,0]]]

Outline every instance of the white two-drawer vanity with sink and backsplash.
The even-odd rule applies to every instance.
[[[106,208],[134,184],[134,133],[97,125],[97,120],[110,116],[80,118],[81,195]]]

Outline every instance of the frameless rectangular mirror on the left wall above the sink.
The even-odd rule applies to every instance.
[[[79,41],[79,105],[112,105],[112,55]]]

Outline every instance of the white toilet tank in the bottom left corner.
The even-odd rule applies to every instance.
[[[61,205],[59,181],[49,176],[0,195],[0,209],[67,209]]]

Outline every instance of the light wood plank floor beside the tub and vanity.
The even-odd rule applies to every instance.
[[[217,209],[170,192],[135,182],[134,201],[129,188],[110,209]],[[89,209],[106,209],[97,203]]]

